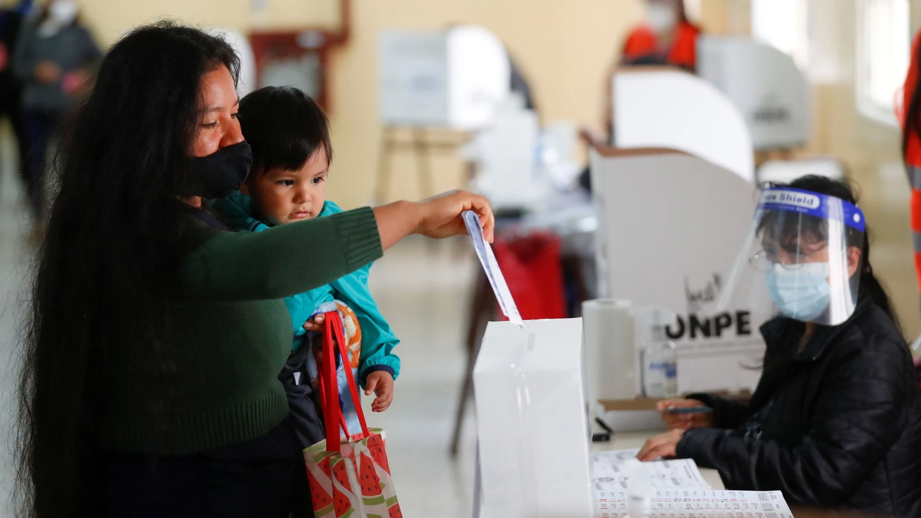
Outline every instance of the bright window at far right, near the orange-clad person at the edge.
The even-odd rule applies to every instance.
[[[894,108],[911,59],[908,0],[857,0],[857,109],[898,125]]]

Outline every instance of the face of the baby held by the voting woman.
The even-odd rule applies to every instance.
[[[315,218],[326,201],[330,161],[320,147],[297,171],[274,168],[248,179],[240,189],[270,224]]]

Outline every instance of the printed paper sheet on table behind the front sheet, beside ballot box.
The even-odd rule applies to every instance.
[[[595,452],[591,455],[592,490],[627,489],[629,477],[624,460],[635,458],[639,449]],[[710,489],[693,459],[657,460],[645,464],[653,489]]]

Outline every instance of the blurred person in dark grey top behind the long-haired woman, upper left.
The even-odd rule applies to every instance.
[[[22,82],[22,170],[37,228],[44,210],[45,158],[52,131],[102,55],[78,15],[76,0],[52,0],[22,27],[13,55],[13,72]]]

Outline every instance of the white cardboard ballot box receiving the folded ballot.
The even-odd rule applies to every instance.
[[[582,319],[491,322],[473,371],[484,518],[590,518]]]

